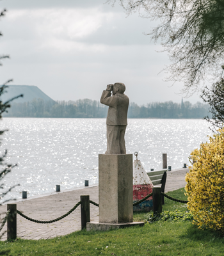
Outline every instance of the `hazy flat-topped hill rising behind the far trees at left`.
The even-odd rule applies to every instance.
[[[13,100],[13,102],[23,103],[31,101],[35,98],[43,99],[44,101],[54,101],[34,85],[9,85],[7,88],[7,93],[2,95],[1,100],[5,102],[6,100],[12,99],[13,97],[20,94],[23,94],[24,97]]]

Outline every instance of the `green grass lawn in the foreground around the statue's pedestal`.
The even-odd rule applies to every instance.
[[[168,193],[186,200],[184,189]],[[186,211],[186,205],[165,200],[165,211]],[[134,214],[134,220],[147,213]],[[0,255],[224,255],[224,238],[198,230],[191,221],[157,221],[145,227],[108,232],[74,232],[54,239],[0,242]]]

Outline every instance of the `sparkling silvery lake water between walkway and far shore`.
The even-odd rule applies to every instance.
[[[162,168],[162,153],[172,169],[188,164],[188,156],[211,134],[205,120],[129,119],[125,134],[127,153],[139,153],[145,170]],[[8,197],[28,196],[98,183],[98,154],[106,151],[106,120],[95,118],[3,118],[1,152],[7,163],[17,163],[6,175]]]

